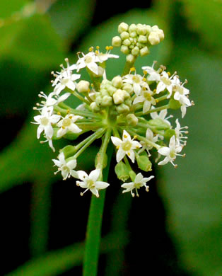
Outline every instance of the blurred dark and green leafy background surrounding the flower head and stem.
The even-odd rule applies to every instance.
[[[0,1],[0,275],[81,275],[90,193],[81,197],[74,180],[54,176],[57,154],[39,143],[30,122],[37,94],[51,92],[50,72],[65,57],[76,62],[80,50],[110,45],[122,21],[164,30],[165,40],[136,68],[158,60],[177,71],[195,106],[180,120],[189,126],[187,157],[177,159],[177,169],[153,168],[150,192],[132,199],[110,176],[98,275],[221,275],[221,6],[220,0]],[[119,55],[108,77],[122,71]],[[96,149],[78,161],[82,169],[93,168]]]

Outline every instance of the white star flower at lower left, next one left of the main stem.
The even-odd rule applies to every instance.
[[[76,178],[77,173],[74,171],[74,168],[76,168],[76,159],[71,159],[68,162],[65,160],[64,153],[61,152],[58,156],[58,159],[52,159],[54,162],[54,166],[58,167],[58,171],[56,171],[54,174],[61,171],[63,180],[66,180],[66,178],[70,178],[70,176],[73,176]]]

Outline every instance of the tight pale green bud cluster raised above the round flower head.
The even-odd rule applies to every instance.
[[[146,24],[121,23],[118,27],[119,36],[112,38],[112,46],[120,47],[121,52],[127,54],[127,61],[132,62],[139,55],[149,54],[149,48],[157,45],[164,38],[163,30],[157,25],[151,27]]]

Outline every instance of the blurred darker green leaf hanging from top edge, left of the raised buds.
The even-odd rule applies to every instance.
[[[94,6],[95,0],[59,0],[49,8],[49,16],[57,33],[71,42],[88,28]]]

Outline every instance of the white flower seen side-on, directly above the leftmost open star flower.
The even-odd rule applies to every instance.
[[[44,98],[41,103],[37,103],[37,106],[40,106],[38,110],[41,110],[44,107],[54,106],[58,103],[63,102],[71,95],[71,93],[64,93],[62,96],[58,96],[55,92],[49,93],[49,96],[45,95],[45,93],[40,92],[39,97]]]

